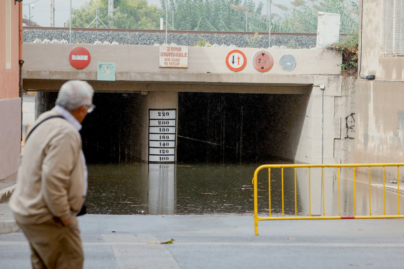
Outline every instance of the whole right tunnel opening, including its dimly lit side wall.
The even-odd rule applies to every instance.
[[[305,94],[181,92],[177,161],[262,163],[292,156],[307,102]]]

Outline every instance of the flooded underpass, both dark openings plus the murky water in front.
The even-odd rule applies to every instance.
[[[55,93],[51,93],[56,98]],[[96,93],[97,109],[83,122],[91,214],[252,214],[252,176],[262,164],[286,163],[307,106],[305,94],[203,94],[178,96],[177,164],[139,160],[142,104],[136,93]],[[38,100],[38,98],[37,98]],[[293,109],[290,109],[293,107]],[[47,107],[46,109],[49,109]],[[288,131],[287,131],[288,130]],[[269,215],[268,175],[260,172],[259,214]],[[266,173],[266,174],[265,174]],[[328,169],[285,169],[284,214],[396,215],[404,198],[386,191],[380,177]],[[379,185],[377,185],[379,184]],[[397,186],[389,183],[387,185]],[[324,193],[323,193],[324,192]],[[271,170],[271,214],[282,215],[280,169]],[[296,196],[296,199],[295,199]],[[340,201],[338,200],[340,196]],[[324,200],[323,200],[324,197]],[[323,202],[324,201],[324,202]],[[354,212],[354,203],[355,210]]]

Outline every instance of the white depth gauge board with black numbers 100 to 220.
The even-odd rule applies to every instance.
[[[149,108],[149,163],[175,163],[177,109]]]

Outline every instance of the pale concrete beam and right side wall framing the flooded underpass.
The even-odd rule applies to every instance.
[[[49,45],[49,46],[48,46]],[[88,67],[77,70],[68,61],[75,44],[23,44],[29,58],[24,65],[24,85],[35,90],[58,90],[67,79],[85,79],[97,92],[147,94],[143,109],[142,160],[147,161],[148,108],[177,108],[176,92],[288,94],[275,97],[281,118],[263,122],[271,154],[302,163],[339,163],[334,140],[341,139],[341,119],[335,98],[341,96],[341,55],[327,50],[269,49],[274,66],[261,73],[249,63],[257,48],[241,48],[247,65],[233,72],[225,64],[232,48],[189,47],[188,68],[158,67],[159,48],[136,45],[82,45],[91,53]],[[81,45],[80,45],[81,46]],[[292,54],[297,65],[283,71],[279,58]],[[97,62],[116,63],[116,81],[97,81]],[[324,92],[318,85],[324,84]],[[317,86],[312,86],[317,85]],[[324,128],[323,128],[324,125]],[[280,147],[279,145],[282,145]]]

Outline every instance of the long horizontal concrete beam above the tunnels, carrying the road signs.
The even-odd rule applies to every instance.
[[[313,75],[341,72],[341,55],[326,50],[269,49],[275,59],[274,66],[261,73],[249,63],[261,50],[258,48],[242,48],[247,65],[234,72],[225,64],[231,48],[189,47],[188,68],[163,68],[158,64],[159,47],[156,46],[88,44],[80,46],[89,50],[90,64],[78,70],[68,60],[70,50],[76,46],[24,43],[26,88],[58,90],[66,80],[83,79],[89,81],[96,91],[161,91],[158,84],[164,83],[173,85],[169,91],[212,92],[211,87],[226,85],[221,92],[290,93],[312,84]],[[279,58],[284,54],[296,58],[296,67],[290,72],[283,71],[279,65]],[[116,81],[97,81],[97,62],[116,63]]]

